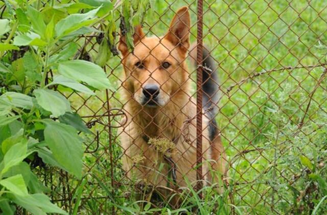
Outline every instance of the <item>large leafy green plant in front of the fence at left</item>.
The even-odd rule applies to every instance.
[[[149,2],[133,1],[133,8],[126,2],[124,11],[130,16],[123,17],[124,22],[141,20],[137,17],[143,16]],[[64,93],[56,90],[60,87],[61,92],[95,95],[95,91],[113,89],[100,66],[111,52],[118,54],[114,4],[102,0],[1,4],[7,9],[0,19],[0,209],[14,214],[17,204],[34,214],[66,214],[43,194],[49,189],[30,165],[41,158],[45,164],[82,177],[84,149],[78,131],[90,131]],[[141,12],[137,14],[138,10]],[[105,33],[91,27],[100,22]],[[124,31],[131,37],[132,25],[125,26]],[[97,61],[100,66],[86,61],[74,42],[80,35],[98,33],[104,34],[100,42],[105,50],[99,53],[104,58]]]

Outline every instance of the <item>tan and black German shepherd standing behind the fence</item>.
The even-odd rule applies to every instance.
[[[190,22],[188,7],[182,7],[165,36],[146,37],[141,26],[136,26],[133,52],[128,50],[125,36],[121,36],[119,43],[127,114],[120,131],[123,169],[130,179],[157,188],[187,187],[196,181],[196,104],[190,95],[191,78],[185,63],[190,47]],[[193,50],[190,55],[196,56],[195,53]],[[207,51],[202,67],[202,171],[207,183],[219,184],[226,164],[215,122],[216,68]],[[160,141],[164,144],[154,144]]]

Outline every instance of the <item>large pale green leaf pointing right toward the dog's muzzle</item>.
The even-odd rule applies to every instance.
[[[103,69],[88,61],[73,60],[62,62],[59,64],[58,72],[78,82],[85,82],[99,90],[107,88],[113,90]]]

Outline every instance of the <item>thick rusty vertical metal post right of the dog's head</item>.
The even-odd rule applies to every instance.
[[[196,178],[197,191],[202,189],[202,27],[203,27],[203,2],[198,0],[198,15],[197,15],[197,79],[196,79]],[[202,192],[199,192],[199,197],[202,198]]]

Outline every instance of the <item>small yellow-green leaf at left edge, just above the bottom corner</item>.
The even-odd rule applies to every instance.
[[[6,187],[9,191],[18,196],[28,195],[26,184],[22,175],[11,176],[6,179],[2,179],[0,184]]]

